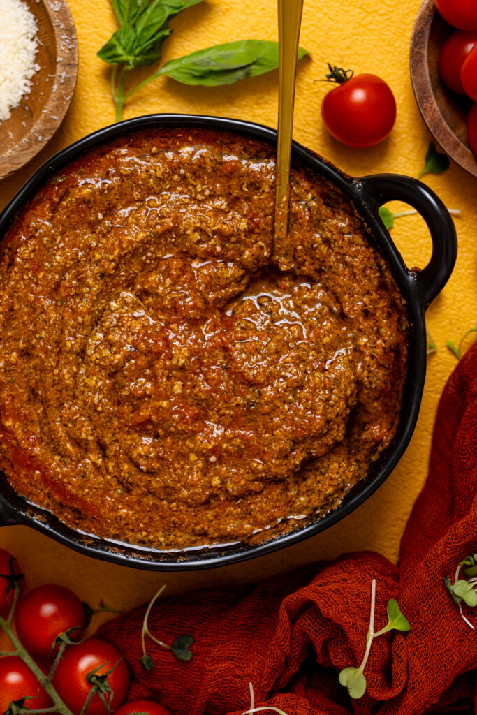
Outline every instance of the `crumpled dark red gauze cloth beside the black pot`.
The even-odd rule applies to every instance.
[[[477,543],[477,345],[449,378],[433,433],[426,484],[393,566],[378,553],[350,553],[258,586],[164,598],[149,630],[165,642],[191,633],[193,658],[177,660],[147,638],[155,661],[140,664],[144,608],[105,624],[99,636],[125,654],[128,699],[147,698],[173,715],[240,713],[271,705],[287,715],[419,715],[474,712],[477,631],[443,587]],[[338,673],[363,659],[371,581],[375,630],[396,598],[410,631],[376,638],[365,667],[367,691],[352,700]],[[473,609],[465,615],[477,626]]]

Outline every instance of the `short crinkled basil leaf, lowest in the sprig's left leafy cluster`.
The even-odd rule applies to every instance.
[[[149,43],[145,44],[139,41],[137,31],[128,23],[120,27],[102,46],[98,56],[109,64],[124,64],[126,69],[152,64],[161,59],[162,43],[170,33],[169,28],[159,30]]]

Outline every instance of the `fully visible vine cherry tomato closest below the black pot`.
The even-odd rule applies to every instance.
[[[78,596],[53,583],[32,588],[16,609],[16,629],[29,653],[51,656],[59,633],[80,626],[69,634],[73,641],[82,638],[84,611]]]

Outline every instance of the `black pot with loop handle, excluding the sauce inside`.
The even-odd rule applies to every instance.
[[[242,122],[237,119],[221,117],[197,117],[187,114],[153,114],[147,117],[137,117],[127,122],[114,124],[112,127],[100,129],[88,137],[80,139],[62,152],[55,154],[41,166],[26,182],[25,186],[6,207],[0,216],[0,240],[19,209],[36,194],[49,177],[55,174],[65,164],[82,157],[98,144],[109,142],[118,137],[138,132],[142,129],[164,129],[167,127],[216,129],[222,132],[242,134],[251,139],[260,139],[276,145],[277,133],[259,124]],[[339,169],[326,162],[321,157],[293,143],[292,161],[299,160],[317,174],[333,182],[346,194],[363,220],[370,228],[375,246],[388,263],[395,277],[401,294],[408,305],[410,320],[410,345],[408,374],[403,395],[402,414],[398,431],[392,443],[381,453],[380,458],[370,467],[368,475],[361,480],[345,496],[343,502],[334,511],[314,523],[308,522],[302,528],[297,528],[285,536],[249,546],[246,543],[230,547],[214,546],[193,548],[187,551],[158,551],[152,548],[142,548],[127,543],[106,541],[101,538],[85,536],[65,526],[50,513],[32,506],[9,486],[4,475],[0,473],[0,523],[26,524],[51,538],[74,548],[76,551],[121,563],[124,566],[145,568],[155,571],[174,569],[195,569],[222,566],[226,563],[243,561],[247,558],[262,556],[278,548],[302,541],[309,536],[324,531],[343,516],[359,506],[370,494],[383,483],[395,468],[407,447],[418,418],[419,405],[426,375],[426,325],[424,313],[428,305],[442,290],[451,275],[456,262],[456,231],[446,207],[440,199],[425,184],[400,176],[398,174],[377,174],[375,176],[353,179]],[[420,272],[410,271],[405,266],[402,257],[385,230],[378,215],[378,208],[391,199],[400,199],[413,206],[426,221],[433,244],[433,252],[428,265]]]

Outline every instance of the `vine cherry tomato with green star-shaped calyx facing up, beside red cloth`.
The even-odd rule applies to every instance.
[[[56,691],[74,715],[80,715],[92,689],[86,676],[98,666],[102,668],[99,668],[97,675],[104,675],[116,666],[107,679],[113,695],[104,695],[109,709],[117,709],[126,697],[129,670],[121,651],[99,638],[87,638],[77,646],[68,646],[53,676]],[[107,709],[98,694],[92,697],[87,715],[107,715]]]

